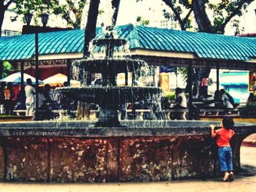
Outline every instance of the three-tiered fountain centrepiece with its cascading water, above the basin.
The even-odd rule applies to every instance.
[[[111,28],[112,29],[112,28]],[[69,99],[99,105],[99,120],[95,126],[120,126],[118,106],[124,103],[143,101],[145,98],[162,93],[160,88],[139,87],[135,85],[135,75],[140,69],[148,70],[145,61],[132,59],[125,39],[114,37],[113,31],[105,39],[93,39],[90,43],[90,58],[72,63],[75,79],[80,80],[79,88],[56,88],[57,95]],[[125,74],[125,86],[117,85],[118,74]],[[97,85],[91,85],[88,76],[99,74],[102,77]],[[128,85],[128,75],[132,74],[132,85]]]

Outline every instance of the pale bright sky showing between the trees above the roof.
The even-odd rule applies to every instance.
[[[98,23],[104,22],[105,25],[110,23],[110,16],[113,10],[106,9],[106,7],[111,7],[110,0],[101,0],[99,9],[104,9],[105,15],[100,15],[98,18]],[[121,4],[118,12],[117,25],[125,25],[127,23],[136,23],[136,18],[141,16],[143,19],[150,20],[149,26],[154,24],[156,20],[163,20],[162,10],[168,9],[165,3],[161,0],[143,0],[136,3],[136,0],[121,0]],[[244,26],[244,33],[255,33],[256,32],[256,1],[253,2],[248,7],[248,12],[241,17],[241,26]],[[86,18],[86,15],[85,17]],[[10,28],[11,30],[21,30],[23,23],[19,22],[17,24],[8,23],[7,20],[4,21],[4,28]],[[85,21],[83,22],[85,26]],[[52,27],[66,27],[65,22],[59,20],[58,17],[51,15],[49,20],[49,26]],[[233,35],[234,30],[227,26],[226,34]]]

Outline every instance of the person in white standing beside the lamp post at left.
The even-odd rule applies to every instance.
[[[26,116],[32,116],[35,118],[35,88],[32,86],[32,80],[29,78],[26,80],[25,94],[26,94]]]

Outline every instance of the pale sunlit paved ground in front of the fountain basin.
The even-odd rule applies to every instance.
[[[235,176],[236,178],[232,183],[223,183],[220,177],[208,180],[182,180],[157,183],[0,183],[0,192],[256,191],[256,147],[241,148],[241,164],[243,164],[243,170],[241,174]]]

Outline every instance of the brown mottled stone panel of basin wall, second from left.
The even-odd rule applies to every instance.
[[[51,139],[50,180],[53,182],[105,182],[105,139]]]

